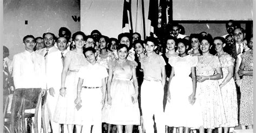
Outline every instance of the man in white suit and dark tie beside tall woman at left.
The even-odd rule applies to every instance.
[[[48,55],[48,63],[46,64],[48,95],[46,98],[45,124],[46,130],[50,129],[50,121],[53,132],[59,132],[59,123],[53,122],[53,115],[55,113],[55,107],[59,96],[64,56],[68,51],[66,50],[67,46],[68,40],[64,36],[60,36],[57,39],[58,50]]]

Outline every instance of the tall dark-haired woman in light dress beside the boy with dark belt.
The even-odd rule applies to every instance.
[[[76,132],[81,132],[82,129],[82,117],[80,117],[82,112],[76,109],[74,101],[77,97],[77,73],[80,67],[89,64],[83,54],[84,38],[83,32],[72,35],[76,48],[65,55],[60,95],[53,117],[53,121],[67,124],[69,133],[73,132],[74,125],[76,125]]]

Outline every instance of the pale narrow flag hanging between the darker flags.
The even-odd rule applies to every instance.
[[[144,3],[143,0],[137,0],[137,10],[136,10],[136,25],[135,32],[142,36],[142,40],[145,39],[145,25],[144,25]]]

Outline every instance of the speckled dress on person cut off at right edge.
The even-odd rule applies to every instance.
[[[245,69],[247,71],[253,70],[253,54],[250,51],[241,55],[245,59]],[[242,77],[241,103],[240,103],[240,124],[253,124],[253,76],[244,75]]]

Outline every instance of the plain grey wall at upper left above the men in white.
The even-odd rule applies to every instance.
[[[80,16],[79,0],[4,0],[3,7],[3,45],[9,48],[10,58],[24,51],[22,39],[27,34],[36,38],[45,32],[58,36],[60,27],[71,33],[80,30],[80,22],[71,17]]]

